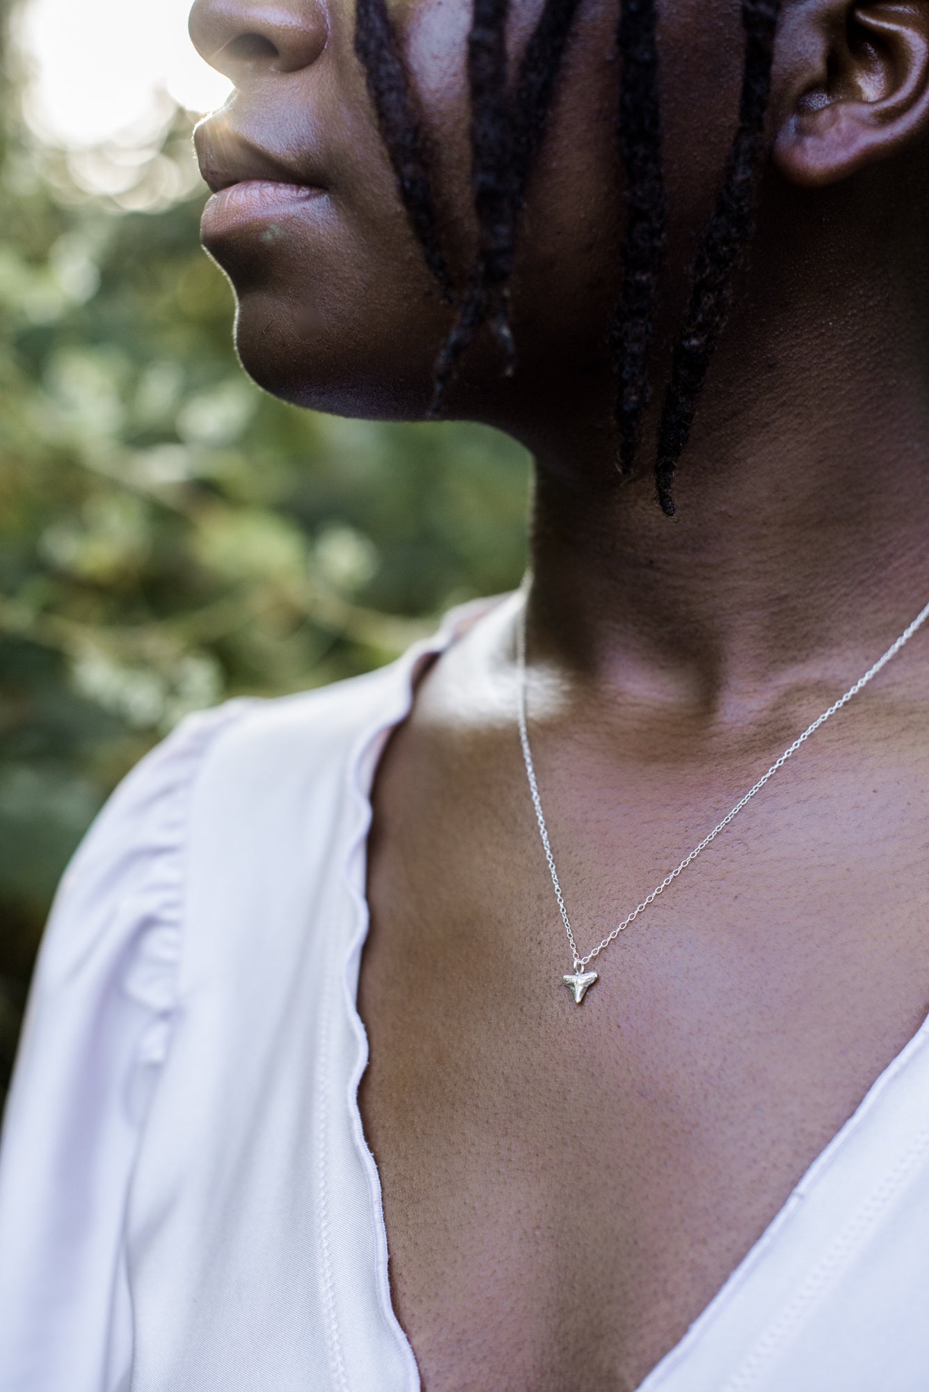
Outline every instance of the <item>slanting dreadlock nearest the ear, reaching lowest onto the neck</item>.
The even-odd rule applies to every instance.
[[[674,470],[690,438],[709,362],[725,327],[737,270],[755,227],[765,116],[782,0],[741,0],[745,71],[726,178],[694,266],[694,287],[674,348],[658,438],[655,483],[666,516],[674,515]]]

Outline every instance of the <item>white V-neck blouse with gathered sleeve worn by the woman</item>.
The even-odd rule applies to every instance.
[[[356,987],[377,760],[462,622],[370,677],[188,720],[97,820],[6,1116],[3,1392],[417,1392]],[[640,1392],[926,1392],[928,1041]]]

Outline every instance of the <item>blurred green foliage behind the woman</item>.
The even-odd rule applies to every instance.
[[[527,490],[492,432],[261,394],[199,249],[188,117],[145,159],[68,156],[3,68],[0,1091],[56,883],[115,782],[188,711],[377,665],[515,585]]]

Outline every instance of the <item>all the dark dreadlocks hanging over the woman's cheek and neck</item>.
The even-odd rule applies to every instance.
[[[508,372],[516,349],[509,287],[519,216],[545,136],[580,0],[545,0],[510,93],[506,75],[509,0],[473,0],[467,74],[478,245],[459,296],[455,326],[435,366],[431,415],[438,415],[462,355],[487,324]],[[673,352],[659,427],[655,480],[668,516],[673,479],[687,447],[700,393],[732,306],[734,277],[755,223],[765,114],[770,95],[777,18],[783,0],[741,0],[745,68],[738,127],[713,214],[702,235],[684,324]],[[620,0],[616,46],[622,61],[619,142],[626,174],[627,221],[622,288],[609,334],[616,365],[619,466],[636,461],[649,404],[654,313],[665,258],[666,199],[655,0]],[[364,67],[401,198],[442,291],[451,294],[420,121],[385,0],[359,0],[356,53]]]

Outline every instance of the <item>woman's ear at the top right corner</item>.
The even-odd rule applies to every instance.
[[[821,188],[929,134],[929,0],[800,0],[784,14],[773,161]]]

